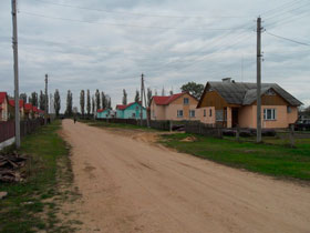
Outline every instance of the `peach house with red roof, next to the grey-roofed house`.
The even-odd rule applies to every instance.
[[[197,121],[198,100],[187,92],[168,97],[153,97],[151,100],[151,120]]]

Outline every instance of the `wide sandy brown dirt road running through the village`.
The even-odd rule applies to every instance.
[[[310,232],[310,189],[63,121],[81,232]]]

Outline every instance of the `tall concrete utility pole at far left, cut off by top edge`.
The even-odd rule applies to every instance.
[[[20,112],[19,112],[19,57],[18,57],[18,17],[17,0],[12,0],[13,57],[14,57],[14,102],[16,102],[16,145],[20,148]]]

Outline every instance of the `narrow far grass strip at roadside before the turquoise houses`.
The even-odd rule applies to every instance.
[[[142,130],[142,131],[153,131],[156,132],[158,130],[134,125],[134,124],[125,124],[125,123],[107,123],[106,121],[94,121],[94,120],[79,120],[82,123],[86,123],[90,126],[99,126],[99,128],[111,128],[111,129],[126,129],[126,130]]]

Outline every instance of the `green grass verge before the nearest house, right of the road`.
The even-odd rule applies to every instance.
[[[197,140],[182,141],[187,136],[195,136]],[[310,139],[296,140],[296,149],[277,144],[238,143],[186,133],[162,135],[159,142],[179,152],[229,166],[281,179],[310,181]]]

